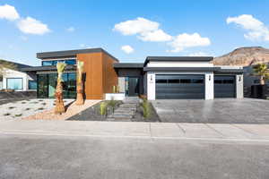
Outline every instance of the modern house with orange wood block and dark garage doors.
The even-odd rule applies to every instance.
[[[148,56],[143,64],[119,63],[102,48],[38,53],[38,98],[53,98],[56,63],[68,64],[64,73],[64,98],[75,98],[77,61],[84,62],[87,99],[104,99],[118,86],[123,96],[163,98],[243,98],[243,68],[214,66],[210,56]]]

